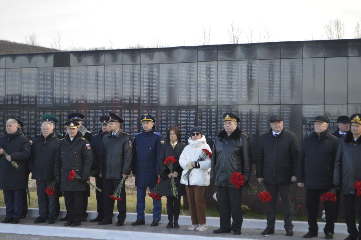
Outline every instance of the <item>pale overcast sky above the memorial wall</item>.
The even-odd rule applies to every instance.
[[[157,40],[173,47],[201,45],[205,26],[210,44],[227,44],[233,22],[242,30],[240,43],[248,43],[249,29],[264,42],[259,39],[264,28],[271,32],[270,42],[318,40],[326,38],[323,26],[335,18],[344,22],[344,38],[353,38],[361,0],[1,0],[0,39],[25,42],[35,33],[38,45],[51,47],[60,31],[63,49],[151,46]]]

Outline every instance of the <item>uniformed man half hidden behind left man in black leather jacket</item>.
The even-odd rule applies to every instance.
[[[91,166],[91,171],[96,171],[95,174],[95,186],[103,189],[103,179],[99,176],[100,173],[100,147],[103,136],[109,134],[109,117],[101,116],[101,130],[99,134],[95,134],[91,140],[90,146],[93,152],[93,164]],[[96,197],[96,207],[97,207],[97,217],[91,219],[90,222],[100,222],[104,218],[104,209],[103,209],[103,192],[95,191]]]

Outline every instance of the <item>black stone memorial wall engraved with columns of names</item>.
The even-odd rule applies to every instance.
[[[301,140],[317,115],[335,131],[339,115],[361,112],[361,39],[0,55],[0,86],[0,126],[19,118],[31,137],[44,113],[62,132],[81,112],[96,134],[112,111],[132,138],[149,113],[162,134],[177,125],[186,142],[198,125],[212,146],[232,112],[256,150],[271,115]]]

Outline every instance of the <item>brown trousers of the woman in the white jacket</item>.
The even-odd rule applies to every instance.
[[[192,224],[205,224],[205,186],[186,185],[186,192]]]

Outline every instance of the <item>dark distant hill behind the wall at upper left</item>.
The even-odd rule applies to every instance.
[[[58,52],[57,49],[32,46],[25,43],[0,40],[0,54],[30,53],[30,52]]]

